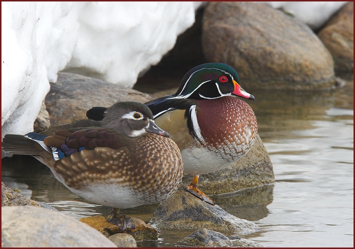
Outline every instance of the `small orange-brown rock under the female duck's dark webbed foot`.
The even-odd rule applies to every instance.
[[[130,234],[137,241],[139,240],[157,240],[158,231],[150,225],[145,224],[144,221],[131,217],[133,219],[135,228],[126,228],[125,233]],[[90,227],[95,228],[106,237],[116,233],[121,233],[121,229],[116,225],[106,221],[106,218],[101,215],[85,217],[80,219],[81,222],[88,224]]]

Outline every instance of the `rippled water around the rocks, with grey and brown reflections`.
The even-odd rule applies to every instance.
[[[276,183],[211,196],[227,212],[260,226],[241,237],[265,247],[354,246],[353,89],[351,77],[330,91],[252,92]],[[77,219],[111,210],[71,193],[32,157],[2,159],[2,181]],[[157,206],[121,211],[148,222]],[[158,241],[138,246],[175,247],[193,231],[159,232]]]

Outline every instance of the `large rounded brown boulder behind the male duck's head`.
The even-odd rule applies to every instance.
[[[233,66],[246,91],[335,83],[332,55],[311,28],[264,4],[208,2],[202,48],[208,61]]]

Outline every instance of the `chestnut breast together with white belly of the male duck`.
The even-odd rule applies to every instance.
[[[222,97],[197,103],[196,145],[181,150],[184,172],[196,175],[221,170],[241,159],[258,133],[255,114],[241,99]]]

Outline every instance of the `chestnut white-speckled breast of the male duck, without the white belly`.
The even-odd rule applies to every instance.
[[[253,110],[245,101],[222,97],[201,100],[198,104],[196,116],[203,137],[201,145],[221,151],[233,161],[251,148],[258,125]]]

